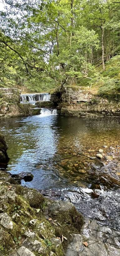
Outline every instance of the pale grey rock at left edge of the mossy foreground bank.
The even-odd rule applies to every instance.
[[[0,214],[0,224],[5,228],[5,229],[13,229],[13,223],[11,221],[11,218],[8,216],[7,213],[1,213]]]

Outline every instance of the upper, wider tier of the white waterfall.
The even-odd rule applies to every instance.
[[[35,104],[36,101],[50,101],[51,95],[49,93],[38,93],[38,94],[21,94],[21,103],[29,102]]]

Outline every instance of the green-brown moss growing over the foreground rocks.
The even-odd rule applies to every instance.
[[[4,175],[7,179],[9,177],[8,173],[4,172],[0,172],[0,175]],[[1,193],[3,191],[3,195],[8,192],[8,187],[8,182],[6,182],[5,185],[2,185]],[[24,188],[20,185],[13,185],[11,189],[17,194],[15,201],[13,202],[11,199],[8,203],[5,203],[5,205],[7,207],[6,213],[8,216],[11,218],[14,217],[12,218],[13,229],[6,231],[4,228],[0,228],[0,231],[3,234],[1,243],[2,246],[5,247],[4,255],[7,255],[8,250],[11,250],[11,248],[14,250],[15,247],[21,245],[25,231],[30,229],[32,232],[35,232],[36,239],[40,242],[42,241],[45,251],[44,254],[46,256],[49,256],[51,251],[55,256],[63,256],[63,247],[64,249],[67,248],[68,241],[64,239],[60,246],[55,247],[51,243],[51,238],[55,235],[56,237],[62,238],[63,235],[69,240],[71,233],[79,233],[83,224],[83,217],[81,214],[79,214],[75,207],[73,207],[68,211],[60,211],[56,215],[50,213],[47,216],[50,220],[47,220],[46,209],[50,200],[44,198],[34,189]],[[41,210],[37,212],[36,209],[38,208]],[[29,221],[32,219],[37,219],[35,225],[29,224]],[[44,222],[43,229],[39,226],[42,222]],[[46,237],[47,241],[44,237]],[[30,238],[30,240],[31,239],[32,238]],[[34,254],[40,256],[40,253],[38,252],[34,252]]]

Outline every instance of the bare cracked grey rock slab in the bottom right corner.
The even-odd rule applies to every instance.
[[[81,233],[72,235],[66,256],[118,256],[119,235],[120,233],[116,233],[115,229],[103,227],[96,221],[87,219]],[[85,241],[86,247],[83,244]]]

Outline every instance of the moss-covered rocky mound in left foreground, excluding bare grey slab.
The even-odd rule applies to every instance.
[[[0,171],[0,255],[63,256],[82,225],[72,203],[47,200]]]

